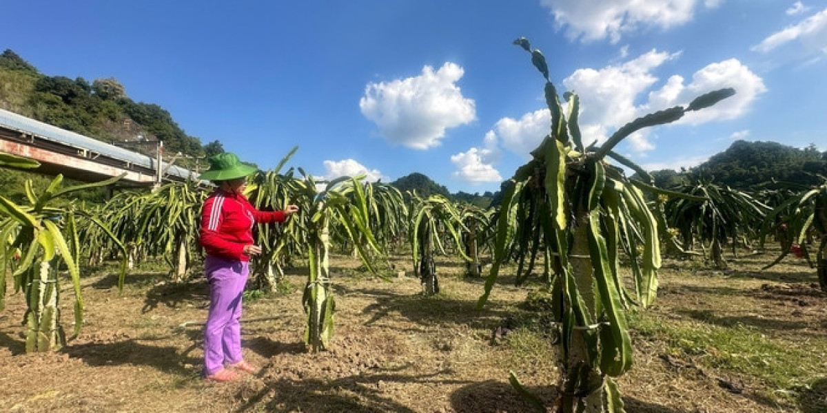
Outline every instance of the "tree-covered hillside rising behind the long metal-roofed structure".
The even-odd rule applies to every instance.
[[[46,76],[12,50],[0,55],[0,108],[108,143],[132,145],[131,150],[141,151],[136,142],[152,140],[163,140],[168,154],[204,156],[223,150],[218,140],[202,145],[184,133],[164,108],[132,101],[115,78],[89,83]],[[154,151],[155,146],[146,149]],[[184,166],[187,162],[176,161]]]

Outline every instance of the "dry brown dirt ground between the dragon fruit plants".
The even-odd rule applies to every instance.
[[[747,323],[790,345],[810,340],[825,348],[827,296],[814,284],[815,270],[788,258],[760,271],[771,260],[769,254],[730,259],[732,269],[724,272],[667,260],[657,305],[648,311],[664,320]],[[421,296],[418,279],[383,282],[357,266],[343,257],[332,261],[337,330],[320,354],[308,354],[302,341],[302,268],[288,275],[294,291],[247,300],[242,344],[246,359],[262,370],[232,383],[201,377],[198,323],[208,305],[202,277],[174,284],[164,273],[133,273],[119,295],[112,273],[89,274],[83,330],[50,354],[24,353],[25,303],[9,292],[0,313],[0,411],[532,411],[509,385],[509,370],[547,404],[553,400],[552,346],[535,335],[492,339],[538,284],[514,287],[504,273],[488,306],[476,311],[483,282],[455,275],[460,263],[438,263],[437,297]],[[70,333],[69,282],[61,298]],[[618,380],[630,413],[827,411],[820,410],[827,406],[825,377],[798,398],[767,400],[762,395],[773,389],[753,377],[674,357],[657,339],[633,335],[633,341],[635,365]]]

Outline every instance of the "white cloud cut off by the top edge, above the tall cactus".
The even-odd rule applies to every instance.
[[[571,40],[609,38],[617,42],[641,26],[663,29],[692,20],[696,8],[716,7],[723,0],[540,0]]]

